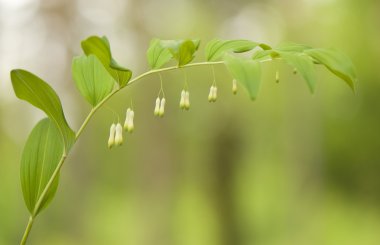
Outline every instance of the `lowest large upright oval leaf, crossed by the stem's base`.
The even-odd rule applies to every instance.
[[[58,187],[58,176],[37,203],[63,154],[63,141],[56,124],[49,118],[41,120],[26,141],[20,166],[21,187],[25,204],[33,217],[46,208]]]

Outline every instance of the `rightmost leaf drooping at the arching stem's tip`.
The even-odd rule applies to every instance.
[[[308,49],[304,51],[318,63],[323,64],[336,76],[343,79],[352,90],[355,90],[356,73],[351,60],[334,49]]]

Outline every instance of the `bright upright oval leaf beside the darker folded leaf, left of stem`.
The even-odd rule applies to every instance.
[[[72,74],[79,92],[92,106],[110,94],[115,84],[113,77],[95,55],[75,57]]]

